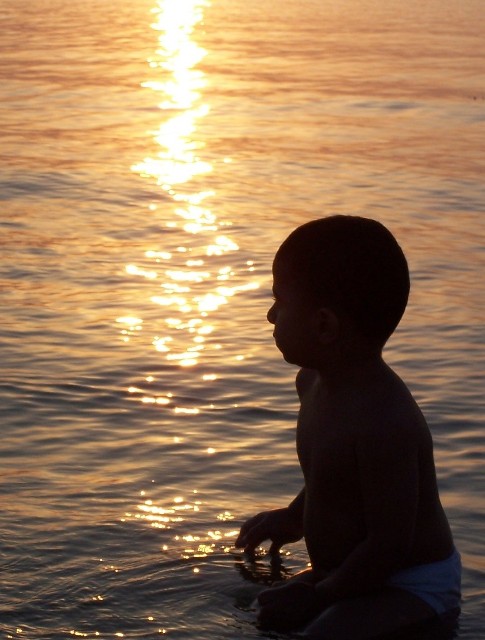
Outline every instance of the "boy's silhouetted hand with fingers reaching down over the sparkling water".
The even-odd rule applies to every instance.
[[[288,508],[263,511],[247,520],[241,527],[235,546],[253,553],[264,540],[271,540],[269,553],[277,553],[284,544],[296,542],[303,536],[300,522],[295,522]]]

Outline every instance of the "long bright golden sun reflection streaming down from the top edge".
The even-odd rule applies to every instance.
[[[200,63],[208,52],[197,36],[209,5],[208,0],[157,0],[151,27],[158,34],[158,47],[148,60],[152,77],[142,83],[155,92],[160,110],[160,124],[151,134],[157,152],[132,167],[156,185],[160,204],[152,202],[149,215],[166,233],[163,246],[147,248],[140,264],[126,265],[125,273],[143,280],[144,292],[147,284],[152,286],[144,301],[152,305],[152,317],[158,310],[152,345],[180,367],[194,367],[208,350],[221,349],[214,339],[218,315],[231,298],[259,286],[253,261],[238,266],[240,248],[231,235],[232,223],[218,219],[213,210],[214,165],[203,157],[203,121],[210,116],[210,105],[204,96],[208,78]],[[136,313],[143,315],[141,310]],[[118,322],[125,342],[142,329],[150,330],[141,318],[127,315]],[[208,375],[206,382],[216,379]],[[146,404],[171,402],[160,394],[130,394]],[[198,410],[173,411],[192,415]]]

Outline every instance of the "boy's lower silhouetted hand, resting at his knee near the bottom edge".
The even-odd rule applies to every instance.
[[[310,622],[319,606],[315,587],[308,582],[289,581],[258,596],[261,610],[258,622],[263,628],[289,631]]]

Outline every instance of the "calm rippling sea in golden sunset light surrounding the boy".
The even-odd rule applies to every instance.
[[[387,349],[428,417],[485,638],[482,0],[0,0],[0,634],[265,636],[235,532],[299,490],[265,320],[296,225],[410,262]]]

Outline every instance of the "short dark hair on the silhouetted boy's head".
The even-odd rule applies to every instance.
[[[376,220],[336,215],[303,224],[279,248],[278,265],[311,302],[343,311],[358,333],[380,346],[406,309],[406,258]]]

